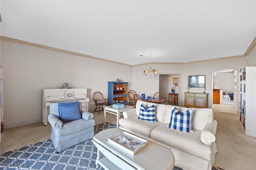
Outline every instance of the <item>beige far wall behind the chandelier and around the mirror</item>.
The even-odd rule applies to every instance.
[[[206,92],[208,94],[208,107],[212,107],[212,72],[225,68],[240,70],[246,65],[246,58],[226,59],[217,61],[208,61],[192,64],[153,64],[153,68],[157,69],[161,74],[180,74],[180,98],[179,105],[184,106],[184,92],[188,87],[188,76],[195,75],[199,72],[200,75],[206,75]],[[132,82],[134,90],[138,94],[146,93],[146,96],[152,96],[158,91],[158,77],[145,78],[142,74],[143,70],[149,65],[134,66],[132,68]],[[203,88],[190,88],[190,92],[203,92]],[[238,94],[237,94],[238,95]]]

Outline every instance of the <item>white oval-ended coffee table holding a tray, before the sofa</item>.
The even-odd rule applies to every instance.
[[[108,138],[116,132],[122,130],[106,129],[97,133],[92,139],[98,148],[96,168],[100,165],[105,170],[172,170],[174,167],[175,159],[170,149],[149,141],[148,145],[132,155],[108,141]]]

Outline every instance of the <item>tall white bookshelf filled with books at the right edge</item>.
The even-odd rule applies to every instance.
[[[246,66],[239,73],[239,119],[246,135],[256,137],[256,66]]]

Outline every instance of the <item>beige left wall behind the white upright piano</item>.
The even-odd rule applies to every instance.
[[[8,41],[1,41],[0,54],[4,68],[6,127],[41,121],[43,88],[60,88],[65,82],[72,88],[88,88],[91,110],[95,108],[94,92],[100,91],[108,97],[108,81],[115,81],[117,77],[132,81],[131,66]]]

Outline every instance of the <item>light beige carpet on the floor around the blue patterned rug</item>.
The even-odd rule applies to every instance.
[[[214,165],[225,170],[253,170],[256,167],[256,138],[244,134],[239,116],[232,106],[214,106],[214,119],[218,122],[216,145],[218,152]],[[94,114],[96,124],[103,122],[103,113]],[[116,124],[116,116],[107,114],[107,121]],[[48,124],[34,123],[22,127],[5,129],[0,143],[1,153],[19,149],[50,138]]]

